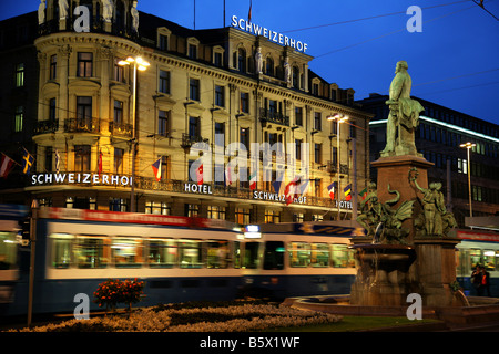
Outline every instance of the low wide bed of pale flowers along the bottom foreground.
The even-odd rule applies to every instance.
[[[210,308],[146,308],[129,315],[70,320],[22,331],[33,332],[245,332],[334,323],[342,317],[272,304]]]

